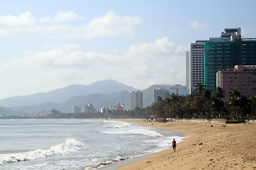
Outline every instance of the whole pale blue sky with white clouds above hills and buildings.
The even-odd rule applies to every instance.
[[[0,99],[114,79],[186,85],[189,43],[256,38],[256,1],[0,0]]]

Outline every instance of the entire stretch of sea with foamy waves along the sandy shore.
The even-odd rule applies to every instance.
[[[95,169],[183,137],[107,120],[0,120],[0,169]]]

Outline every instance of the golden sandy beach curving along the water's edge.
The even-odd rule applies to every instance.
[[[118,170],[154,169],[256,169],[256,123],[227,124],[194,121],[145,123],[122,120],[162,130],[184,132],[176,152],[166,149]]]

